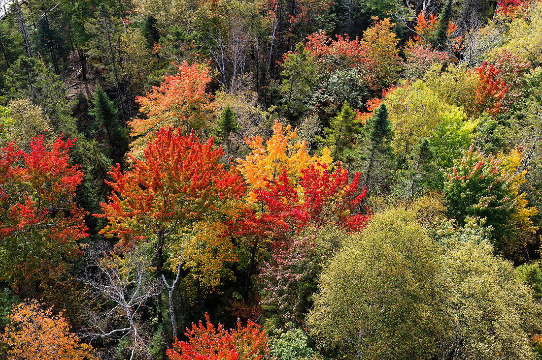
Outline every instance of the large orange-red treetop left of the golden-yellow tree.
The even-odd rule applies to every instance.
[[[120,166],[109,172],[113,188],[109,201],[102,203],[109,225],[103,230],[128,243],[144,238],[162,224],[198,220],[210,211],[228,212],[229,201],[244,194],[241,175],[226,171],[218,162],[221,148],[213,139],[199,142],[182,129],[161,129],[149,143],[143,160],[132,158],[130,171]],[[154,230],[153,230],[154,229]]]

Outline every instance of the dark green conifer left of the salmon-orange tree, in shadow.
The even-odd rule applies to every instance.
[[[94,132],[105,130],[107,142],[109,143],[109,157],[120,162],[122,155],[127,149],[127,141],[124,136],[124,129],[117,120],[118,110],[114,102],[98,85],[92,98],[94,108],[89,112],[94,117]]]

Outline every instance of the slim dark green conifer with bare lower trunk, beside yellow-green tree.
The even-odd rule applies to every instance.
[[[365,132],[370,141],[369,162],[365,171],[365,186],[367,186],[369,185],[372,166],[378,155],[388,153],[391,149],[391,123],[388,119],[388,107],[386,107],[385,103],[380,104],[375,110],[375,115],[367,121]]]

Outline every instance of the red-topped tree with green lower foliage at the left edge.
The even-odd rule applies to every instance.
[[[46,146],[38,136],[28,152],[13,144],[0,148],[2,279],[18,294],[49,304],[72,300],[70,271],[81,255],[79,241],[88,236],[74,200],[83,173],[70,165],[73,144],[59,138]]]

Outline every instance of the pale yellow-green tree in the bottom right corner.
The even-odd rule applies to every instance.
[[[534,359],[531,336],[542,308],[517,279],[510,261],[494,255],[486,229],[469,220],[455,234],[441,232],[438,282],[446,293],[448,326],[437,359]]]

